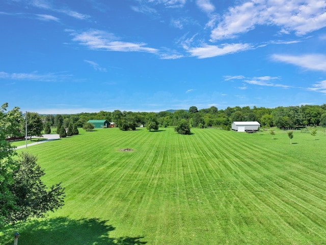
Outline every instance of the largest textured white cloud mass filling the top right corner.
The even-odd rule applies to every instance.
[[[229,8],[211,32],[211,40],[234,38],[257,25],[277,26],[280,33],[301,36],[326,27],[323,0],[252,0]]]

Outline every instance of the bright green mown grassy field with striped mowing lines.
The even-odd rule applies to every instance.
[[[0,244],[326,244],[326,135],[117,128],[30,146],[65,206]],[[133,151],[122,152],[130,148]],[[18,150],[18,152],[25,151]]]

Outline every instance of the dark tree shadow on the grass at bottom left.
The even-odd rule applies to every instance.
[[[112,225],[107,225],[105,220],[97,218],[83,218],[73,220],[68,217],[57,217],[7,226],[0,236],[0,244],[12,245],[14,233],[20,233],[18,241],[27,245],[140,245],[146,244],[138,237],[110,237],[110,232],[115,230]],[[1,234],[1,233],[0,233]]]

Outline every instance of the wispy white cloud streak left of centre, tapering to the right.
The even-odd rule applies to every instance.
[[[73,36],[73,41],[87,46],[91,50],[146,52],[153,54],[158,52],[156,48],[146,47],[146,43],[119,41],[114,34],[100,30],[90,30],[82,33],[72,32],[71,35]]]

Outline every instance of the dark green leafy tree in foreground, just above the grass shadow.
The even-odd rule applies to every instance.
[[[64,188],[61,183],[49,190],[41,181],[44,170],[36,163],[37,158],[30,153],[22,153],[18,168],[13,173],[13,183],[9,190],[15,197],[15,208],[10,212],[10,222],[26,220],[30,217],[44,217],[48,211],[54,212],[64,205]]]

